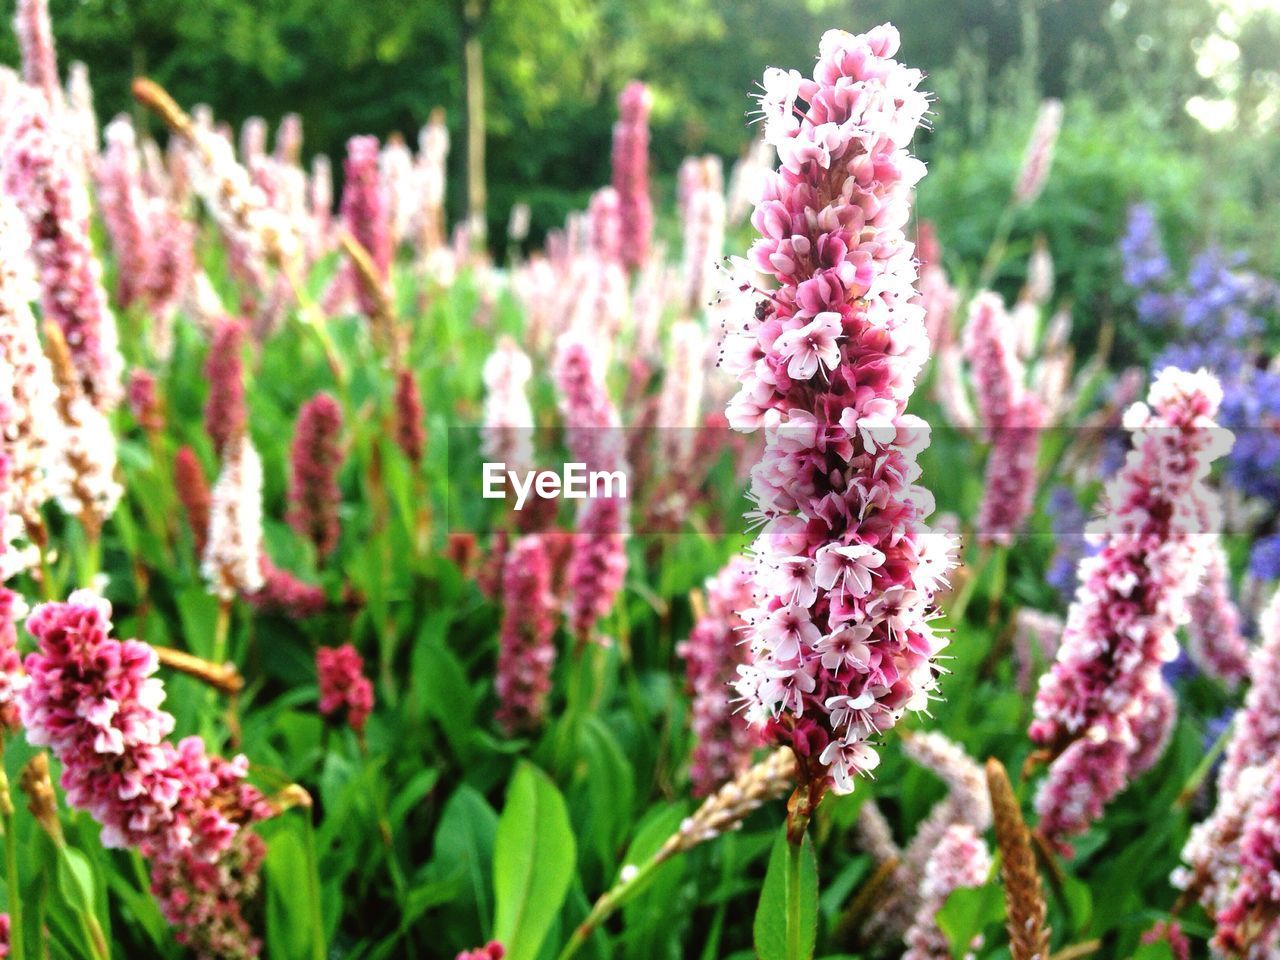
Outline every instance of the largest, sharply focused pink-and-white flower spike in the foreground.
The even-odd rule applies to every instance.
[[[952,540],[925,548],[932,500],[914,480],[928,429],[906,415],[929,352],[902,232],[928,100],[922,74],[888,59],[896,46],[888,24],[829,31],[812,81],[765,74],[780,168],[749,262],[772,285],[744,282],[756,302],[726,343],[741,384],[728,422],[764,428],[750,490],[762,576],[735,686],[763,739],[808,765],[813,800],[876,767],[872,740],[928,704],[946,645],[931,621]]]

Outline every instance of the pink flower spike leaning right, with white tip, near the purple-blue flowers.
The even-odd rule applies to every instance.
[[[1133,451],[1091,527],[1057,660],[1041,678],[1030,737],[1053,756],[1037,795],[1039,829],[1066,849],[1164,748],[1172,701],[1160,669],[1204,571],[1199,539],[1220,507],[1204,483],[1230,448],[1213,424],[1222,392],[1207,372],[1161,371],[1149,406],[1125,415]]]

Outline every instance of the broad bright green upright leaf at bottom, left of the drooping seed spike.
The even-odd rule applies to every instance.
[[[576,870],[564,799],[547,774],[524,763],[498,820],[493,864],[494,938],[509,960],[535,960]]]

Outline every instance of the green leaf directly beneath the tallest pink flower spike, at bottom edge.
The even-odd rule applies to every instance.
[[[818,861],[805,833],[796,850],[778,832],[755,910],[755,951],[760,960],[809,960],[818,940]]]

